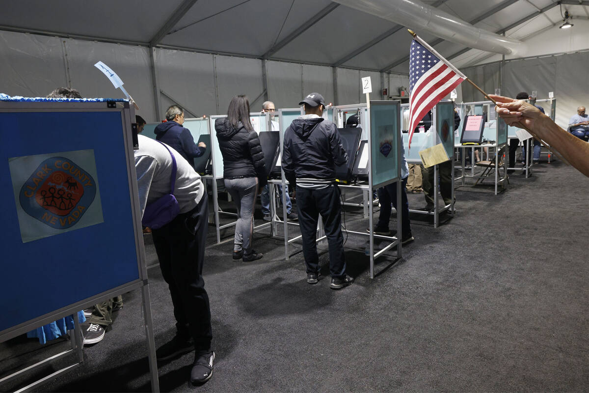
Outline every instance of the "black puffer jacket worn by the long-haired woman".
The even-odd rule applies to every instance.
[[[227,118],[215,120],[215,131],[223,154],[223,178],[257,177],[258,187],[265,186],[268,175],[256,131],[247,131],[241,122],[233,127]]]

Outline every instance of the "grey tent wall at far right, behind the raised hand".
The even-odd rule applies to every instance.
[[[571,116],[577,113],[577,107],[589,105],[586,88],[589,77],[585,72],[588,61],[589,52],[507,61],[501,72],[501,93],[515,97],[520,91],[528,94],[537,91],[540,100],[554,92],[557,99],[555,121],[566,129]],[[499,85],[500,66],[500,63],[493,63],[461,71],[483,90],[493,93]],[[468,83],[462,84],[462,95],[465,102],[484,100]],[[544,103],[542,106],[548,113],[550,105]]]

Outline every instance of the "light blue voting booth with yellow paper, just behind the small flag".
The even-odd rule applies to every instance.
[[[409,111],[409,104],[401,104],[403,113]],[[403,118],[408,116],[403,115]],[[407,121],[406,127],[409,127]],[[444,151],[452,165],[451,176],[452,179],[452,202],[439,207],[439,191],[438,191],[438,165],[434,166],[434,209],[431,212],[426,210],[409,209],[410,213],[428,214],[434,216],[434,228],[440,224],[440,213],[448,211],[454,216],[454,102],[440,101],[432,109],[432,126],[425,133],[413,133],[411,140],[411,149],[409,149],[409,133],[403,133],[403,147],[405,148],[405,158],[409,164],[422,164],[419,152],[434,147],[437,144],[442,144]],[[397,214],[399,216],[399,214]]]

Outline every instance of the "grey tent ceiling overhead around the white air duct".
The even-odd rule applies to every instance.
[[[589,18],[579,0],[423,3],[522,41],[560,25],[561,8]],[[408,27],[457,67],[501,59]],[[3,8],[0,29],[403,74],[411,41],[405,27],[329,0],[21,0]]]

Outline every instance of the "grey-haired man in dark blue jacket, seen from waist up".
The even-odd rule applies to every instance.
[[[171,105],[166,111],[166,123],[155,127],[155,139],[161,141],[174,150],[190,163],[194,168],[194,158],[204,154],[206,144],[203,142],[194,144],[194,138],[184,124],[184,110],[178,105]]]

